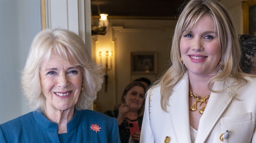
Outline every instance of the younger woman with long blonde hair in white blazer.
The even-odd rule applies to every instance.
[[[256,142],[256,78],[239,67],[229,12],[191,0],[181,12],[171,66],[148,90],[140,140],[146,143]]]

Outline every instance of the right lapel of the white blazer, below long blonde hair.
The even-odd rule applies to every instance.
[[[233,98],[230,98],[228,95],[228,83],[231,83],[232,79],[228,78],[222,82],[215,82],[213,90],[224,90],[220,93],[211,93],[207,107],[204,110],[204,113],[200,119],[198,132],[196,136],[195,143],[205,142],[208,135],[211,133],[213,127],[217,121],[222,116],[223,112],[232,101]]]

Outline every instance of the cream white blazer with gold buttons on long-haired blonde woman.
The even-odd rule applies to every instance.
[[[234,81],[227,78],[215,82],[207,106],[200,119],[195,143],[256,143],[256,78],[237,90],[239,100],[230,99],[227,87]],[[169,143],[191,143],[188,105],[188,74],[173,88],[165,112],[160,106],[160,86],[148,90],[142,122],[140,142],[163,143],[166,136]],[[220,136],[231,131],[227,140]]]

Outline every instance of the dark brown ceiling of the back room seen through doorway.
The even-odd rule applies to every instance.
[[[109,18],[174,19],[189,0],[91,0],[92,17],[99,13]],[[99,11],[97,5],[99,6]]]

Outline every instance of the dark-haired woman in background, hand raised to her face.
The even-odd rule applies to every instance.
[[[143,114],[140,113],[144,109],[144,94],[146,88],[139,81],[129,83],[122,94],[121,105],[113,111],[106,111],[104,114],[117,118],[119,135],[122,143],[138,142],[140,140],[140,132],[130,134],[129,123],[137,122],[139,130],[141,130]]]

